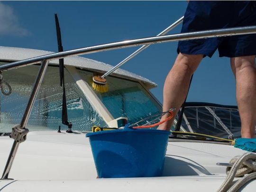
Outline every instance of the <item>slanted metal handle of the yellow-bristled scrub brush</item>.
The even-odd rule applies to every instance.
[[[179,25],[180,23],[183,22],[183,17],[179,18],[177,21],[175,21],[172,25],[170,25],[169,27],[167,27],[164,31],[162,31],[161,33],[159,33],[158,35],[156,35],[156,37],[158,36],[163,36],[166,33],[168,33],[169,31],[173,30],[177,25]],[[131,58],[134,58],[137,54],[139,54],[142,50],[145,50],[146,48],[148,48],[150,46],[149,45],[143,45],[141,48],[139,48],[138,50],[136,50],[134,53],[132,53],[131,55],[129,55],[127,58],[125,58],[124,60],[122,60],[119,64],[117,64],[115,67],[111,68],[107,73],[105,73],[104,75],[101,76],[101,78],[105,78],[106,76],[110,75],[112,72],[114,72],[115,70],[117,70],[119,67],[121,67],[123,64],[125,64],[128,60],[130,60]]]

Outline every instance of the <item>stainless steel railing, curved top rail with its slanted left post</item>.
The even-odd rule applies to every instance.
[[[223,36],[231,36],[231,35],[240,35],[240,34],[252,34],[256,33],[256,26],[246,26],[246,27],[234,27],[234,28],[227,28],[227,29],[217,29],[217,30],[207,30],[207,31],[200,31],[200,32],[192,32],[192,33],[180,33],[180,34],[172,34],[172,35],[165,35],[165,36],[157,36],[157,37],[148,37],[142,39],[135,39],[123,42],[113,42],[108,44],[96,45],[91,47],[85,47],[81,49],[75,50],[67,50],[64,52],[59,53],[52,53],[44,56],[39,56],[35,58],[28,58],[21,61],[9,63],[6,65],[0,66],[0,71],[5,71],[13,68],[24,67],[27,65],[32,65],[35,63],[41,62],[41,67],[39,69],[37,79],[33,88],[33,91],[30,95],[26,111],[23,115],[22,122],[20,124],[20,130],[25,129],[27,125],[27,120],[30,115],[30,111],[33,107],[34,101],[37,97],[37,92],[40,88],[42,80],[44,78],[44,74],[46,71],[46,67],[50,60],[53,59],[60,59],[65,57],[77,56],[82,54],[89,54],[95,52],[101,52],[106,50],[115,50],[120,48],[126,47],[135,47],[138,45],[150,45],[154,43],[161,43],[161,42],[175,42],[175,41],[185,41],[185,40],[192,40],[192,39],[201,39],[201,38],[210,38],[210,37],[223,37]],[[19,134],[19,132],[12,132],[11,135]],[[25,135],[26,137],[26,135]],[[14,138],[14,137],[13,137]],[[15,138],[14,138],[15,139]],[[13,142],[9,158],[7,160],[3,175],[1,179],[8,179],[9,171],[12,166],[12,162],[15,158],[16,152],[19,146],[19,140],[15,139]]]

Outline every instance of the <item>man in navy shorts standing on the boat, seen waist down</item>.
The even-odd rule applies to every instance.
[[[252,1],[190,1],[184,15],[182,33],[256,25],[255,4]],[[176,108],[176,116],[187,95],[192,74],[202,58],[211,57],[217,49],[219,57],[230,58],[236,78],[241,135],[243,138],[253,138],[256,125],[255,34],[179,42],[178,56],[165,80],[163,111]],[[170,130],[173,121],[174,118],[158,129]]]

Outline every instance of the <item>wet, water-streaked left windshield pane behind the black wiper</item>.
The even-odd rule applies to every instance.
[[[13,125],[20,123],[38,69],[39,66],[34,65],[3,72],[12,93],[9,96],[0,94],[0,133],[10,133]],[[93,125],[106,126],[66,69],[64,77],[68,121],[73,124],[73,130],[90,131]],[[27,127],[30,131],[58,129],[59,125],[67,129],[62,124],[62,95],[59,68],[48,67],[29,117]]]

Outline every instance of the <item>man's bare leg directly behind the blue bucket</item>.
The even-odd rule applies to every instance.
[[[168,111],[171,108],[176,108],[174,111],[174,117],[183,104],[192,74],[201,62],[203,55],[187,55],[179,53],[174,66],[167,75],[164,85],[164,102],[163,111]],[[164,115],[161,120],[164,120],[168,114]],[[159,125],[157,129],[170,130],[173,124],[174,118],[170,121]]]

